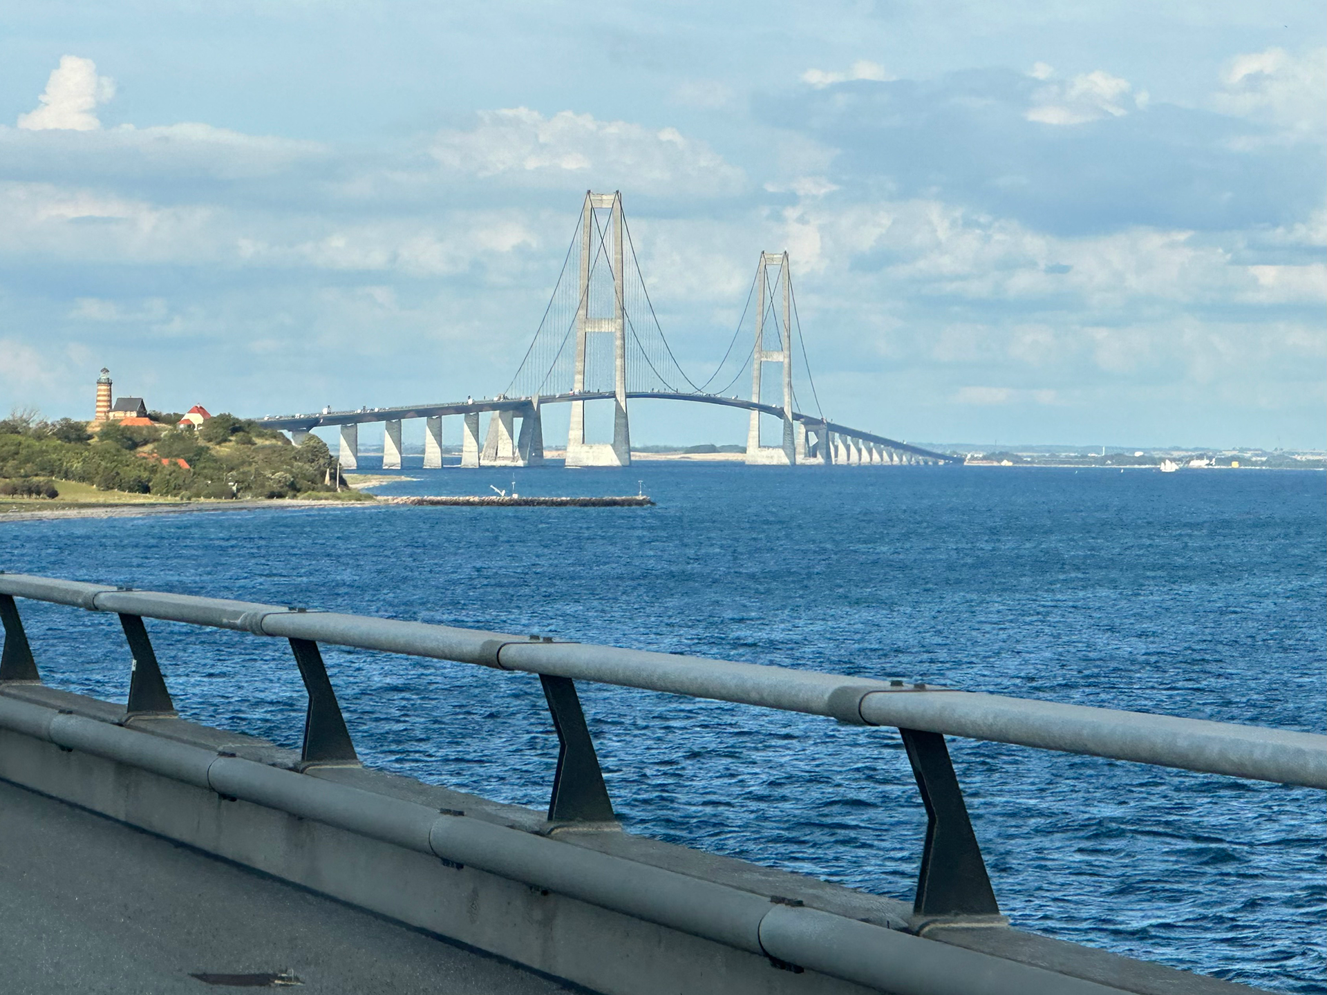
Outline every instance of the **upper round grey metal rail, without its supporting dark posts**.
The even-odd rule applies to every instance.
[[[285,605],[0,573],[0,594],[997,743],[1327,788],[1327,736]]]

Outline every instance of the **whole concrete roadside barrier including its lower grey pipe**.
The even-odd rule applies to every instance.
[[[995,922],[924,939],[889,898],[121,716],[5,685],[0,779],[609,995],[1253,991]]]

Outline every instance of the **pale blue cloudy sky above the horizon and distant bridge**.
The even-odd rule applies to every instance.
[[[620,190],[697,382],[787,249],[840,423],[1323,448],[1324,151],[1300,0],[7,0],[0,407],[496,394]]]

